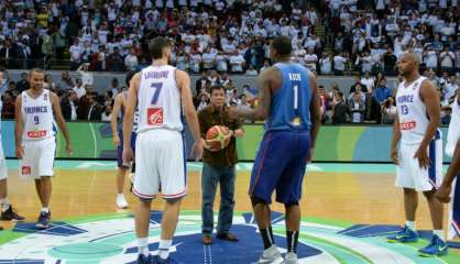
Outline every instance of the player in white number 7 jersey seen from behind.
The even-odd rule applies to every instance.
[[[198,118],[191,100],[190,79],[185,72],[168,65],[171,44],[163,37],[149,45],[151,66],[136,74],[130,84],[123,120],[123,163],[132,160],[130,140],[135,106],[139,109],[135,142],[136,172],[133,193],[140,198],[135,211],[138,263],[154,263],[147,238],[152,199],[165,199],[162,233],[156,263],[171,263],[169,248],[178,221],[180,200],[186,195],[186,156],[182,111],[195,139],[193,151],[201,157]]]

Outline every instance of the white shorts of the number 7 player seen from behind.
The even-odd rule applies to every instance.
[[[180,132],[155,129],[141,132],[135,141],[133,193],[153,199],[161,191],[165,199],[186,195],[186,157]]]

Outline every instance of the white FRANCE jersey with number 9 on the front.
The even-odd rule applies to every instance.
[[[21,99],[24,124],[22,140],[36,141],[54,136],[55,127],[50,90],[43,89],[42,95],[35,99],[23,91]]]

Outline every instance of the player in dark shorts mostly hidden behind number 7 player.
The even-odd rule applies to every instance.
[[[127,86],[130,86],[130,80],[134,76],[135,72],[130,72],[127,74],[125,82]],[[112,129],[113,134],[113,144],[117,146],[117,165],[118,165],[118,172],[117,172],[117,207],[120,209],[128,208],[127,199],[124,199],[123,195],[123,188],[124,188],[124,177],[127,175],[127,172],[129,169],[129,164],[123,164],[122,153],[123,153],[123,134],[121,131],[121,122],[123,120],[124,116],[124,107],[125,107],[125,100],[128,98],[128,91],[122,91],[121,94],[117,95],[114,103],[113,103],[113,110],[112,114],[110,116],[110,124]],[[119,119],[119,116],[121,113],[121,117]],[[120,120],[120,122],[119,122]],[[134,114],[134,128],[138,125],[138,114]],[[133,150],[135,150],[135,129],[133,129],[133,133],[131,136],[131,146]],[[134,168],[134,164],[133,164]]]

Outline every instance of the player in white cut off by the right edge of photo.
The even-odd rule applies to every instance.
[[[452,119],[450,120],[447,136],[446,154],[452,156],[451,164],[446,177],[436,191],[436,197],[442,202],[449,202],[450,194],[453,195],[450,202],[449,213],[449,238],[460,237],[460,92],[457,91],[456,100],[452,103]],[[457,177],[457,183],[453,184]],[[453,193],[452,193],[453,184]]]

